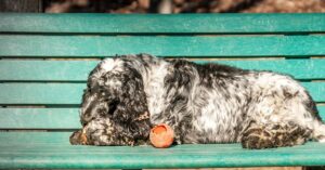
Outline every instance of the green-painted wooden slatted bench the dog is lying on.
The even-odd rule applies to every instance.
[[[324,166],[325,144],[73,146],[89,71],[150,53],[291,74],[325,118],[325,14],[0,14],[0,168]]]

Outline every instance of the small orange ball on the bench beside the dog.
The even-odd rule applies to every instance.
[[[166,148],[173,142],[173,131],[168,125],[161,123],[151,130],[150,139],[155,147]]]

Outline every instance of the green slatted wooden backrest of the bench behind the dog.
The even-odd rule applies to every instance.
[[[291,74],[325,117],[325,14],[0,14],[0,129],[72,131],[103,57],[150,53]]]

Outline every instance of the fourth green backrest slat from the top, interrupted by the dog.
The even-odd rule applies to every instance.
[[[316,102],[325,102],[325,82],[302,82]],[[0,83],[0,105],[79,105],[86,83]]]

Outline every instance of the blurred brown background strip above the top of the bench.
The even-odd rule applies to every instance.
[[[1,0],[2,12],[46,13],[309,13],[325,0]]]

